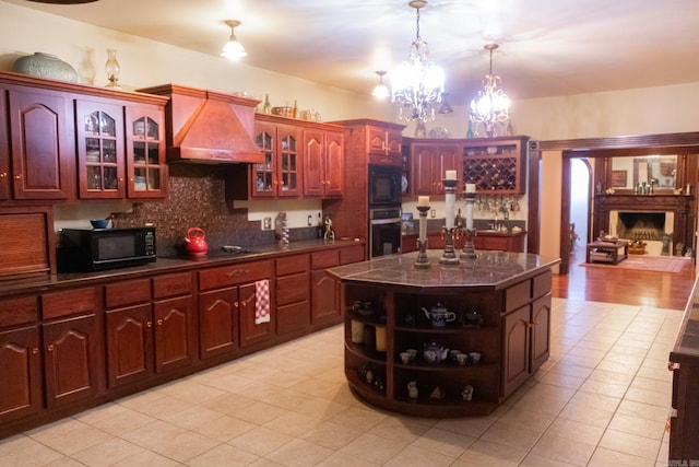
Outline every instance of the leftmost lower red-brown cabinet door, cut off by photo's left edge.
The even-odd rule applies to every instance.
[[[37,326],[0,332],[0,423],[42,409]]]

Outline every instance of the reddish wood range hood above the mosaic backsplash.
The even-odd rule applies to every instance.
[[[252,138],[259,101],[177,84],[140,89],[170,98],[165,108],[167,159],[201,163],[261,163]]]

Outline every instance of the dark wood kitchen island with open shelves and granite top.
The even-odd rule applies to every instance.
[[[441,253],[427,252],[428,269],[411,253],[329,270],[342,287],[345,376],[383,409],[485,416],[548,359],[559,259],[477,250],[442,266]]]

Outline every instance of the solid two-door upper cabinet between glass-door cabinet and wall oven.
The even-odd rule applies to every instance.
[[[341,197],[343,160],[341,131],[304,130],[304,196]]]

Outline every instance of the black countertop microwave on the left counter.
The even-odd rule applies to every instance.
[[[155,261],[155,227],[63,229],[59,272],[99,271]]]

